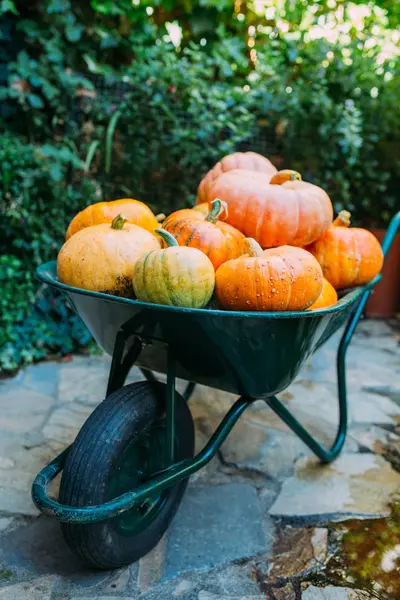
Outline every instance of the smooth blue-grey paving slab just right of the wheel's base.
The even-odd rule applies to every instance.
[[[269,544],[251,485],[192,487],[169,530],[164,578],[248,558]]]

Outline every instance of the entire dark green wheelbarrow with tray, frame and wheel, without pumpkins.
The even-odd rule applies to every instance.
[[[385,256],[399,226],[400,213],[382,244]],[[96,341],[112,355],[104,401],[32,486],[35,505],[62,522],[67,543],[86,564],[119,567],[149,552],[176,513],[189,476],[212,459],[256,400],[264,401],[321,461],[340,453],[347,429],[346,351],[380,276],[326,309],[249,313],[152,305],[72,288],[57,280],[55,262],[42,265],[37,274],[67,294]],[[327,449],[276,395],[346,321],[337,353],[339,425]],[[125,386],[134,364],[145,381]],[[153,371],[166,374],[166,384]],[[176,391],[176,378],[189,382],[183,396]],[[194,456],[186,401],[196,383],[239,399]],[[61,471],[55,501],[47,489]]]

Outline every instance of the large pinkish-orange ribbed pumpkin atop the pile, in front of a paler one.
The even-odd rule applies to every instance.
[[[291,171],[284,177],[277,173],[270,181],[263,173],[229,171],[218,178],[208,200],[225,201],[226,222],[263,248],[305,246],[328,230],[333,209],[324,190],[299,177]]]

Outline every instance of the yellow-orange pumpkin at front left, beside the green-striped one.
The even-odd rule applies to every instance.
[[[65,242],[57,258],[58,279],[85,290],[131,298],[137,259],[159,248],[155,235],[118,215],[111,224],[85,227]]]

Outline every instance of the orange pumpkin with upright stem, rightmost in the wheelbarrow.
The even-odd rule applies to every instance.
[[[383,265],[376,237],[366,229],[349,227],[350,217],[342,210],[325,235],[307,247],[337,290],[368,283]]]

